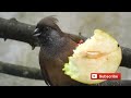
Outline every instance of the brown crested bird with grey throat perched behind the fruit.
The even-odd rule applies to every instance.
[[[83,86],[84,84],[66,75],[62,69],[79,41],[86,38],[62,32],[57,23],[58,19],[55,16],[46,16],[36,24],[33,33],[40,45],[39,65],[44,81],[48,86]]]

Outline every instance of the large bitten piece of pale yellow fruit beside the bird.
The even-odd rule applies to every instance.
[[[107,33],[95,29],[94,36],[81,44],[69,63],[64,74],[84,84],[97,84],[106,79],[91,79],[91,73],[115,73],[121,62],[122,53],[118,42]]]

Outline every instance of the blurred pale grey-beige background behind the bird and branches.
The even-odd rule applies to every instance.
[[[131,48],[131,13],[130,12],[0,12],[0,17],[15,17],[17,21],[36,25],[48,15],[57,15],[58,25],[66,33],[91,37],[95,28],[103,29],[114,36],[118,42]],[[39,48],[32,50],[25,42],[0,38],[0,61],[39,69]],[[119,68],[122,79],[131,79],[131,70]],[[27,79],[0,73],[0,86],[46,86],[44,81]]]

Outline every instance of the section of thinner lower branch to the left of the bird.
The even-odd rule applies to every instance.
[[[35,68],[3,63],[0,61],[0,73],[32,79],[43,79],[41,72]]]

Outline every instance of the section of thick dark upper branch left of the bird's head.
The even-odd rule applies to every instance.
[[[34,49],[39,46],[38,40],[33,37],[34,29],[35,25],[21,23],[15,19],[5,20],[0,17],[0,38],[4,38],[4,40],[13,39],[27,42]]]

